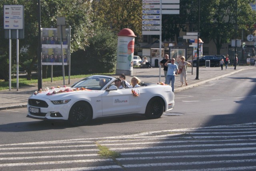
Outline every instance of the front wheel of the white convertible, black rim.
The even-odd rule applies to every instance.
[[[71,107],[68,120],[72,125],[86,125],[92,120],[92,108],[88,103],[78,101]]]

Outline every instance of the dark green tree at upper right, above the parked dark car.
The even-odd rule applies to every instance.
[[[256,12],[250,7],[250,2],[252,0],[237,0],[236,7],[234,0],[201,0],[200,36],[213,40],[217,54],[220,54],[222,44],[229,43],[235,38],[236,9],[237,30],[251,28],[255,23]]]

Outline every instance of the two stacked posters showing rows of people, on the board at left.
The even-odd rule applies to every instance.
[[[64,58],[64,65],[68,65],[70,42],[67,38],[68,29],[66,29],[66,36],[62,40],[62,57],[61,41],[58,38],[57,28],[42,28],[42,65],[62,65],[62,58]]]

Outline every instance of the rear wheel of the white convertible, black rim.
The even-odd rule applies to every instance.
[[[157,119],[164,112],[164,101],[160,97],[153,97],[148,101],[145,115],[150,119]]]

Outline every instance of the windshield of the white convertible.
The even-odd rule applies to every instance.
[[[110,80],[111,80],[110,78],[107,78],[104,76],[90,76],[81,80],[80,82],[77,82],[71,87],[76,87],[76,88],[84,87],[86,89],[101,90],[105,87],[105,85]]]

